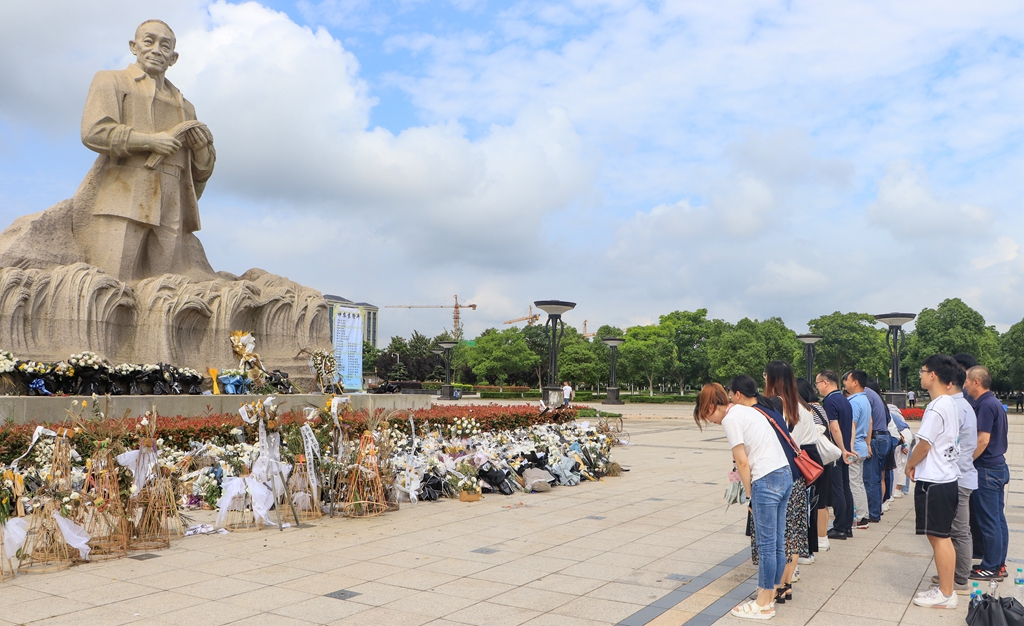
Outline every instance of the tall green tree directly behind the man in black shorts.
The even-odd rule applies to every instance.
[[[921,363],[935,353],[952,357],[967,352],[987,367],[993,378],[1001,375],[999,333],[994,327],[985,326],[985,318],[959,298],[949,298],[936,308],[922,310],[907,343],[907,379],[915,387],[921,384],[918,376]]]

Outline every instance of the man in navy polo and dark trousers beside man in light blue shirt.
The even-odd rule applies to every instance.
[[[833,442],[843,456],[833,468],[833,512],[836,520],[828,531],[828,541],[845,540],[853,537],[853,493],[850,490],[850,463],[857,455],[853,453],[853,408],[850,401],[839,390],[839,375],[831,370],[822,370],[814,379],[818,393],[824,397],[821,406],[828,416],[828,430]]]

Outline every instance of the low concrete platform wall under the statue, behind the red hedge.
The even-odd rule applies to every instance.
[[[431,397],[371,393],[346,393],[352,407],[360,409],[429,409]],[[159,415],[184,415],[197,417],[214,413],[234,413],[243,404],[265,398],[264,395],[110,395],[99,400],[100,409],[108,415],[123,415],[130,410],[133,416],[142,415],[156,407]],[[303,407],[322,407],[327,397],[321,393],[278,395],[284,411],[302,410]],[[71,408],[73,401],[91,399],[65,395],[45,398],[39,395],[0,397],[0,421],[11,420],[15,424],[27,422],[58,422],[67,419],[65,409]]]

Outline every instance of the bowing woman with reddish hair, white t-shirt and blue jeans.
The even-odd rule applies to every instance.
[[[793,490],[793,472],[771,423],[753,408],[758,395],[756,385],[753,395],[736,391],[733,400],[737,404],[730,404],[722,385],[705,385],[697,397],[693,420],[701,429],[708,422],[722,424],[736,471],[751,495],[758,550],[763,556],[758,564],[758,596],[733,609],[732,615],[768,620],[775,617],[776,589],[785,568],[785,509]]]

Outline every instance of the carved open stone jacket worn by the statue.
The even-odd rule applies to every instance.
[[[177,122],[196,119],[196,109],[166,82],[177,101],[177,120],[168,116],[158,120],[156,82],[137,65],[125,70],[98,72],[89,86],[82,114],[82,142],[99,153],[75,195],[76,209],[93,215],[114,215],[154,226],[161,223],[161,210],[173,184],[180,207],[180,229],[200,229],[199,203],[206,181],[213,174],[215,153],[210,144],[209,163],[198,164],[182,141],[181,149],[165,163],[150,169],[145,161],[151,153],[128,152],[128,137],[133,131],[156,133],[170,131]],[[172,123],[173,122],[173,123]],[[170,174],[170,175],[167,175]]]

